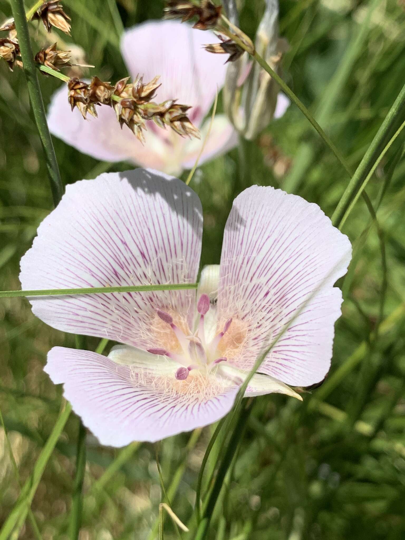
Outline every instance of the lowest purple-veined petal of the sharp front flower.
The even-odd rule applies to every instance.
[[[53,347],[45,366],[55,384],[100,443],[122,447],[159,441],[216,422],[232,408],[238,387],[215,377],[193,385],[157,369],[119,365],[87,350]]]

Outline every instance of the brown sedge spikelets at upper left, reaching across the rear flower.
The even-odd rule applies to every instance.
[[[41,20],[46,31],[50,32],[52,26],[70,35],[71,18],[66,15],[59,0],[46,0],[33,13],[31,20]],[[0,31],[9,32],[6,38],[0,38],[0,57],[9,65],[11,71],[14,65],[22,67],[19,58],[18,37],[13,19],[0,26]],[[41,49],[35,55],[35,62],[52,71],[59,72],[62,68],[69,68],[71,64],[71,51],[57,49],[57,43]],[[84,67],[82,65],[82,67]],[[86,66],[93,67],[93,66]],[[51,74],[52,71],[49,73]],[[87,113],[97,117],[97,106],[107,105],[114,108],[117,121],[123,127],[126,125],[141,142],[145,142],[144,131],[146,122],[152,120],[161,129],[170,127],[180,137],[200,138],[197,127],[187,116],[189,105],[177,103],[177,99],[166,100],[163,103],[154,103],[152,99],[160,86],[157,74],[149,83],[144,83],[143,76],[137,76],[133,82],[129,77],[120,79],[116,84],[104,82],[97,76],[87,83],[78,77],[66,77],[68,83],[68,100],[71,109],[77,109],[86,119]]]

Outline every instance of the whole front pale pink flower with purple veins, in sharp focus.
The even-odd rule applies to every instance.
[[[78,181],[39,226],[21,261],[22,287],[193,283],[202,231],[200,200],[177,178],[137,169]],[[292,321],[245,395],[300,399],[287,385],[328,372],[342,303],[333,284],[350,253],[316,204],[249,187],[227,220],[218,279],[206,267],[198,294],[31,297],[50,326],[122,343],[107,357],[53,347],[45,371],[101,443],[157,441],[226,415],[259,354]]]

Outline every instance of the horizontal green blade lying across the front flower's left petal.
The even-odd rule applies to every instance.
[[[60,296],[64,294],[98,294],[98,293],[134,293],[144,291],[182,291],[197,289],[198,283],[176,283],[173,285],[129,285],[126,287],[89,287],[83,289],[43,289],[42,291],[0,291],[0,298],[16,298],[19,296]]]

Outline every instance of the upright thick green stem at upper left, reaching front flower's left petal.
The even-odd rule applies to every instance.
[[[10,0],[10,4],[18,33],[19,47],[21,50],[21,57],[23,60],[24,73],[28,86],[32,112],[43,146],[46,167],[48,168],[48,174],[51,181],[53,203],[56,206],[63,195],[63,184],[62,180],[60,179],[59,167],[56,160],[55,150],[53,149],[48,123],[46,122],[45,107],[39,87],[36,64],[33,59],[24,3],[23,0]]]

